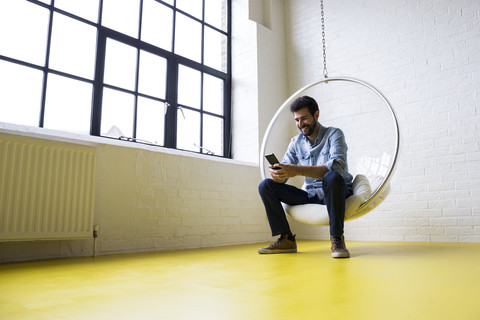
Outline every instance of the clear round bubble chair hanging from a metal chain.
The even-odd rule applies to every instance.
[[[300,96],[313,97],[320,109],[319,122],[340,128],[348,145],[349,172],[354,176],[353,195],[346,199],[345,221],[357,219],[377,207],[388,195],[397,163],[400,135],[398,121],[390,102],[372,85],[354,78],[331,77],[303,87],[278,109],[265,132],[260,149],[260,171],[269,177],[265,155],[279,159],[298,129],[290,104]],[[302,187],[304,177],[288,183]],[[285,212],[297,221],[328,225],[325,205],[283,204]]]

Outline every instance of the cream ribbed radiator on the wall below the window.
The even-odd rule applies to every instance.
[[[0,133],[0,241],[91,238],[95,150]]]

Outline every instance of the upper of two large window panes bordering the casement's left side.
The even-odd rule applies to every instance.
[[[96,42],[96,28],[55,13],[53,16],[50,67],[93,79]]]

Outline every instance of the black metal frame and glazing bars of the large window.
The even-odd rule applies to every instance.
[[[6,57],[3,55],[0,55],[1,60],[5,60],[8,62],[16,63],[19,65],[23,65],[26,67],[34,68],[37,70],[41,70],[43,72],[43,84],[42,84],[42,94],[41,94],[41,107],[40,107],[40,116],[39,116],[39,127],[43,128],[44,127],[44,115],[45,115],[45,100],[46,100],[46,90],[47,90],[47,82],[48,82],[48,75],[49,74],[55,74],[55,75],[60,75],[63,77],[71,78],[74,80],[79,80],[83,81],[86,83],[90,83],[93,85],[93,97],[92,97],[92,107],[91,107],[91,121],[90,121],[90,135],[93,136],[102,136],[101,135],[101,115],[102,115],[102,99],[103,99],[103,89],[104,88],[112,88],[115,90],[127,92],[130,94],[133,94],[135,96],[135,116],[134,116],[134,124],[133,124],[133,137],[129,137],[130,141],[135,141],[135,142],[142,142],[142,141],[137,141],[136,140],[136,115],[137,115],[137,100],[138,97],[147,97],[149,99],[153,99],[156,101],[164,102],[169,105],[167,108],[167,112],[165,115],[165,133],[164,133],[164,144],[161,147],[166,147],[166,148],[177,148],[177,109],[178,108],[184,108],[184,109],[189,109],[189,106],[185,105],[180,105],[177,102],[177,89],[178,89],[178,70],[179,66],[183,65],[192,69],[195,69],[201,74],[207,74],[210,76],[214,76],[216,78],[219,78],[223,80],[224,83],[224,89],[223,89],[223,113],[222,115],[214,114],[211,112],[208,112],[206,110],[203,110],[203,107],[200,108],[200,110],[195,109],[195,111],[200,113],[200,147],[199,151],[193,151],[196,153],[203,153],[203,154],[210,154],[208,149],[205,149],[203,147],[203,114],[206,115],[213,115],[219,118],[223,119],[223,154],[221,157],[225,158],[231,158],[231,28],[232,28],[232,1],[231,0],[226,0],[226,5],[227,5],[227,30],[221,30],[213,25],[208,24],[205,22],[204,18],[199,19],[196,18],[189,13],[180,10],[176,8],[176,1],[173,1],[173,5],[170,5],[169,3],[166,3],[161,0],[155,0],[156,2],[161,3],[162,5],[165,5],[169,7],[170,9],[173,10],[173,26],[172,26],[172,50],[168,51],[159,47],[156,47],[152,44],[149,44],[147,42],[144,42],[140,40],[140,34],[141,34],[141,26],[142,26],[142,10],[143,10],[143,1],[144,0],[139,0],[140,1],[140,12],[139,12],[139,31],[138,31],[138,37],[134,38],[131,36],[128,36],[126,34],[123,34],[121,32],[118,32],[116,30],[107,28],[102,25],[102,10],[103,10],[103,0],[99,0],[99,11],[98,11],[98,19],[97,22],[92,22],[87,19],[84,19],[82,17],[79,17],[75,14],[69,13],[67,11],[64,11],[60,8],[55,7],[55,0],[51,0],[50,4],[46,4],[44,2],[38,1],[38,0],[26,0],[28,2],[31,2],[32,4],[36,4],[39,6],[42,6],[46,9],[48,9],[49,12],[49,24],[48,24],[48,36],[47,36],[47,45],[46,45],[46,56],[45,56],[45,63],[43,66],[40,65],[35,65],[29,62],[21,61],[18,59],[15,59],[14,57]],[[202,17],[205,15],[205,0],[202,1]],[[78,20],[82,23],[86,23],[90,26],[93,26],[97,29],[97,46],[96,46],[96,58],[95,58],[95,73],[94,73],[94,78],[93,80],[91,79],[86,79],[83,77],[79,77],[73,74],[65,73],[59,70],[54,70],[49,67],[49,60],[50,60],[50,46],[51,46],[51,37],[52,37],[52,22],[53,22],[53,15],[55,13],[59,13],[62,15],[65,15],[67,17],[73,18],[75,20]],[[204,65],[201,62],[196,62],[193,60],[190,60],[188,58],[185,58],[183,56],[180,56],[175,53],[175,23],[176,23],[176,16],[177,12],[181,13],[182,15],[193,19],[194,21],[197,21],[201,23],[202,25],[202,39],[201,39],[201,46],[202,46],[202,54],[201,54],[201,62],[203,62],[204,59],[204,30],[206,27],[212,28],[213,30],[220,32],[221,34],[226,36],[226,72],[222,72],[219,70],[216,70],[214,68],[211,68],[209,66]],[[119,42],[122,42],[124,44],[127,44],[129,46],[135,47],[137,49],[137,54],[140,52],[140,50],[147,51],[149,53],[153,53],[157,56],[161,56],[167,60],[167,83],[166,83],[166,95],[165,99],[159,99],[151,96],[147,96],[145,94],[139,93],[138,92],[138,63],[139,59],[137,57],[137,79],[136,79],[136,89],[134,91],[131,90],[126,90],[118,87],[114,87],[108,84],[105,84],[103,82],[104,78],[104,67],[105,67],[105,54],[106,54],[106,41],[107,39],[113,39]],[[201,77],[201,87],[203,88],[203,76]],[[201,104],[203,103],[203,90],[201,90]],[[193,109],[192,109],[193,110]],[[108,137],[106,137],[108,138]]]

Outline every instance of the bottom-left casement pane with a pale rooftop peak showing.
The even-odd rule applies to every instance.
[[[101,134],[107,137],[133,137],[134,96],[103,89]]]

